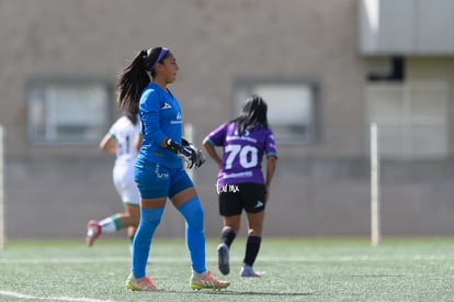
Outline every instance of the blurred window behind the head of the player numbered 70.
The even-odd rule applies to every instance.
[[[308,143],[316,135],[316,89],[307,81],[241,81],[235,89],[235,110],[238,114],[251,94],[268,104],[268,122],[276,143]]]

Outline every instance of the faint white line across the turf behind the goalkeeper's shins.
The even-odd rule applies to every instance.
[[[230,257],[232,261],[242,261],[242,257]],[[189,257],[152,257],[148,259],[150,262],[188,262]],[[215,257],[207,257],[207,261],[217,261]],[[339,257],[324,257],[324,256],[290,256],[281,258],[279,256],[260,256],[261,261],[268,262],[327,262],[327,261],[388,261],[388,260],[454,260],[454,255],[383,255],[383,256],[370,256],[370,255],[357,255],[357,256],[339,256]],[[129,262],[129,257],[59,257],[59,258],[27,258],[27,259],[1,259],[1,264],[23,264],[23,265],[41,265],[41,264],[99,264],[99,262]]]

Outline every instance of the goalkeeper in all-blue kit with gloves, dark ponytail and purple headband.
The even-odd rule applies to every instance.
[[[203,153],[182,138],[182,112],[167,88],[177,79],[179,66],[166,47],[141,51],[122,71],[117,82],[117,103],[139,113],[143,143],[134,177],[140,192],[140,221],[133,242],[129,290],[158,290],[146,275],[151,242],[169,198],[186,225],[186,246],[192,266],[192,289],[220,290],[229,286],[215,278],[205,266],[204,211],[194,184],[183,168],[205,161]]]

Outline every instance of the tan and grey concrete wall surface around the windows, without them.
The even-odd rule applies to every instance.
[[[167,45],[177,56],[181,70],[171,89],[198,144],[234,116],[236,79],[317,82],[317,141],[277,146],[265,235],[367,235],[368,126],[357,32],[355,0],[0,0],[8,237],[83,237],[89,219],[122,211],[111,180],[113,157],[95,144],[27,142],[27,79],[113,82],[129,58],[154,45]],[[451,168],[436,169],[451,167],[450,159],[425,164],[429,172],[418,180],[411,171],[420,164],[390,164],[383,194],[385,234],[451,234],[453,176]],[[217,236],[222,226],[215,176],[209,161],[195,172],[208,236]],[[183,236],[174,209],[168,206],[164,215],[158,234]]]

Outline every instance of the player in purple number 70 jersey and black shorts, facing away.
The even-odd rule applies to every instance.
[[[263,99],[252,96],[247,99],[238,118],[222,124],[203,141],[207,154],[219,166],[216,189],[224,228],[217,253],[218,267],[224,275],[230,272],[229,248],[240,230],[241,212],[245,210],[248,239],[240,276],[261,276],[252,266],[261,245],[264,209],[277,159],[266,111]],[[222,156],[216,147],[223,147]],[[266,156],[265,177],[262,174],[263,155]]]

